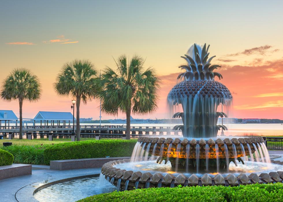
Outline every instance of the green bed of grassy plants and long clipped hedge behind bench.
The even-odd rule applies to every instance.
[[[21,140],[22,141],[22,140]],[[1,147],[14,155],[14,163],[49,165],[52,160],[131,156],[136,140],[89,140],[59,144],[36,144]],[[33,143],[35,145],[29,145]],[[50,142],[49,142],[50,143]]]

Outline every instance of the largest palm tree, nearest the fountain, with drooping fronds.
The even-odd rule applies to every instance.
[[[131,112],[144,115],[157,109],[160,79],[151,67],[143,71],[143,64],[137,55],[130,61],[122,55],[116,62],[117,72],[107,67],[101,75],[101,109],[112,115],[126,113],[126,139],[130,139]]]

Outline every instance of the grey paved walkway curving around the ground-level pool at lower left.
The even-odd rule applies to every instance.
[[[38,167],[38,166],[37,166]],[[40,166],[39,166],[40,167]],[[2,202],[33,202],[36,188],[61,179],[84,175],[99,174],[101,168],[76,169],[68,171],[56,171],[48,169],[32,170],[32,175],[13,177],[0,180],[0,201]]]

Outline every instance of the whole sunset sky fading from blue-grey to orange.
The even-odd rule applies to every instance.
[[[89,59],[103,71],[115,68],[113,58],[137,54],[162,84],[157,111],[132,116],[168,118],[166,97],[185,64],[180,56],[206,43],[233,95],[230,116],[283,119],[282,8],[282,1],[0,1],[0,82],[17,67],[40,79],[42,97],[24,102],[23,118],[71,112],[72,97],[53,89],[64,63]],[[0,109],[19,114],[17,101],[0,100]],[[81,105],[80,115],[99,119],[99,102]],[[117,117],[102,115],[109,118]]]

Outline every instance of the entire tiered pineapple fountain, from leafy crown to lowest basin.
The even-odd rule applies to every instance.
[[[142,136],[139,137],[130,160],[104,164],[102,175],[118,189],[174,187],[178,184],[236,186],[282,181],[281,171],[261,173],[259,176],[258,173],[250,173],[249,176],[245,174],[246,168],[255,169],[259,166],[256,168],[260,170],[266,168],[262,163],[271,164],[262,137],[217,138],[220,129],[227,129],[224,125],[217,125],[218,117],[227,117],[224,112],[217,112],[217,109],[219,106],[229,108],[232,95],[226,86],[215,81],[215,77],[220,80],[222,75],[215,72],[219,65],[211,65],[215,56],[209,58],[208,49],[209,45],[201,47],[194,44],[187,55],[181,56],[187,64],[179,68],[185,71],[180,73],[178,83],[167,97],[173,113],[178,106],[183,109],[183,112],[173,115],[173,118],[181,118],[183,121],[183,125],[173,128],[180,130],[183,138]],[[243,168],[236,177],[230,173],[231,162],[234,164],[232,170],[237,170],[235,166],[238,164],[252,162],[252,166],[256,163],[258,165]],[[151,167],[144,166],[145,164],[150,164]],[[129,167],[132,170],[128,170]],[[139,170],[139,167],[143,168]],[[275,169],[283,170],[283,166]],[[145,171],[155,173],[152,175],[152,172]],[[212,173],[216,175],[213,176]],[[224,173],[225,178],[220,173]]]

